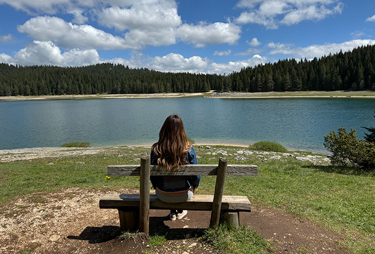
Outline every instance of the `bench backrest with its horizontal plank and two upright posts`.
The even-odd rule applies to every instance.
[[[182,165],[176,171],[168,171],[165,167],[150,165],[150,154],[140,157],[140,165],[109,165],[109,176],[140,176],[139,178],[139,231],[149,233],[150,220],[150,175],[152,176],[192,176],[216,175],[215,193],[212,201],[210,226],[219,224],[221,201],[224,192],[225,176],[257,176],[256,165],[227,165],[228,160],[220,157],[218,165],[189,164]]]

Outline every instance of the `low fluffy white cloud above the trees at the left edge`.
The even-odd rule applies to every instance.
[[[99,54],[96,50],[71,49],[61,53],[51,41],[33,41],[26,48],[15,53],[14,57],[2,54],[0,62],[21,65],[82,66],[97,64]]]

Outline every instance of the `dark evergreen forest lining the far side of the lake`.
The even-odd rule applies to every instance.
[[[229,75],[169,73],[102,63],[83,67],[0,63],[0,96],[375,90],[375,46],[314,58],[279,60]]]

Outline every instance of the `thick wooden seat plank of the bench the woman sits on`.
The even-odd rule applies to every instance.
[[[211,210],[213,195],[193,195],[182,203],[165,203],[155,194],[150,194],[150,209],[175,209],[184,210]],[[100,208],[125,209],[139,207],[139,194],[109,194],[99,201]],[[221,210],[223,211],[250,211],[251,203],[246,196],[223,196]]]

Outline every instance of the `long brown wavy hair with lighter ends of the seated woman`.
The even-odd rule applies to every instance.
[[[178,115],[170,115],[165,119],[159,132],[159,141],[152,145],[159,166],[175,171],[179,165],[188,164],[186,154],[192,143],[186,137],[183,122]]]

